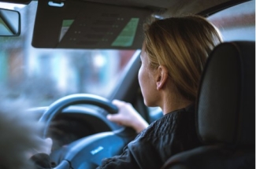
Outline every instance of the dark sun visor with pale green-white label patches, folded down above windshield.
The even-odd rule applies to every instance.
[[[143,22],[152,11],[102,3],[39,0],[32,46],[70,49],[140,49]]]

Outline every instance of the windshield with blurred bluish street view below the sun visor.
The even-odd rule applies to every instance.
[[[37,2],[16,9],[21,15],[21,33],[0,37],[0,91],[9,100],[25,98],[33,106],[47,106],[69,94],[108,97],[121,78],[135,50],[36,49],[32,34]]]

